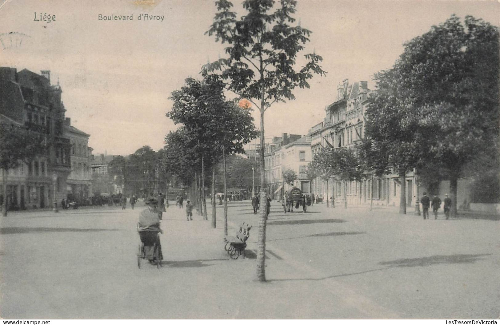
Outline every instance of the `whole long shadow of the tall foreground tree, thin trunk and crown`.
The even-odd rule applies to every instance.
[[[268,279],[267,281],[303,281],[303,280],[313,280],[320,281],[334,277],[357,275],[363,273],[369,273],[374,271],[383,271],[394,267],[410,267],[410,266],[429,266],[433,264],[455,264],[455,263],[474,263],[477,260],[484,259],[479,258],[481,256],[487,256],[491,254],[455,254],[455,255],[434,255],[429,257],[419,257],[419,258],[401,258],[393,261],[380,262],[380,265],[387,265],[385,267],[373,268],[359,272],[352,273],[340,273],[331,276],[319,277],[319,278],[281,278],[281,279]]]

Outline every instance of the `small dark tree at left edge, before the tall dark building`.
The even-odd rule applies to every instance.
[[[37,155],[46,153],[45,137],[24,126],[1,123],[0,125],[0,168],[3,180],[3,216],[7,216],[7,179],[9,169],[21,163],[30,164]]]

